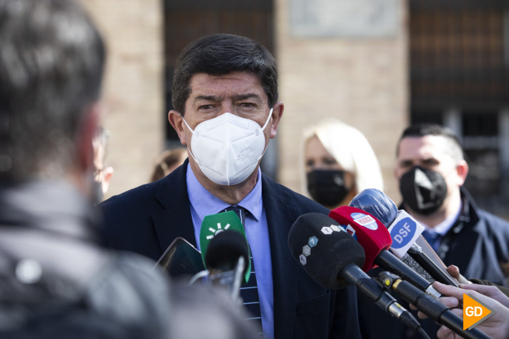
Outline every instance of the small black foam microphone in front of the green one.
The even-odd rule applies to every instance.
[[[204,258],[208,279],[227,286],[234,300],[240,300],[240,285],[250,260],[245,237],[235,231],[217,233],[208,243]]]

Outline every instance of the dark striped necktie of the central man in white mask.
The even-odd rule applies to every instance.
[[[234,211],[242,222],[242,226],[245,229],[246,223],[246,210],[238,205],[230,206],[223,212]],[[249,250],[250,251],[250,250]],[[251,251],[250,251],[251,252]],[[260,329],[262,328],[262,314],[260,312],[260,299],[258,297],[258,286],[256,282],[256,273],[254,272],[254,262],[251,252],[251,274],[249,275],[249,281],[247,284],[240,286],[240,296],[242,297],[244,307],[249,312],[246,320],[256,323]],[[259,334],[262,334],[261,332]]]

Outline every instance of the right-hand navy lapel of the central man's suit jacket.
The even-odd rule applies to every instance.
[[[294,337],[298,265],[288,249],[288,233],[301,211],[286,204],[288,196],[262,174],[262,197],[270,238],[274,298],[274,337]],[[277,197],[277,199],[275,199]]]

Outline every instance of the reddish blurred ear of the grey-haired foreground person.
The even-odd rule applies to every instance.
[[[76,158],[79,170],[83,172],[92,172],[94,168],[94,147],[92,145],[92,140],[97,131],[99,116],[100,104],[99,102],[95,102],[83,111],[76,128]]]

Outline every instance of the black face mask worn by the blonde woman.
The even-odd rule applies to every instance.
[[[321,205],[336,206],[345,199],[350,189],[345,186],[345,171],[314,170],[307,174],[307,190]]]

